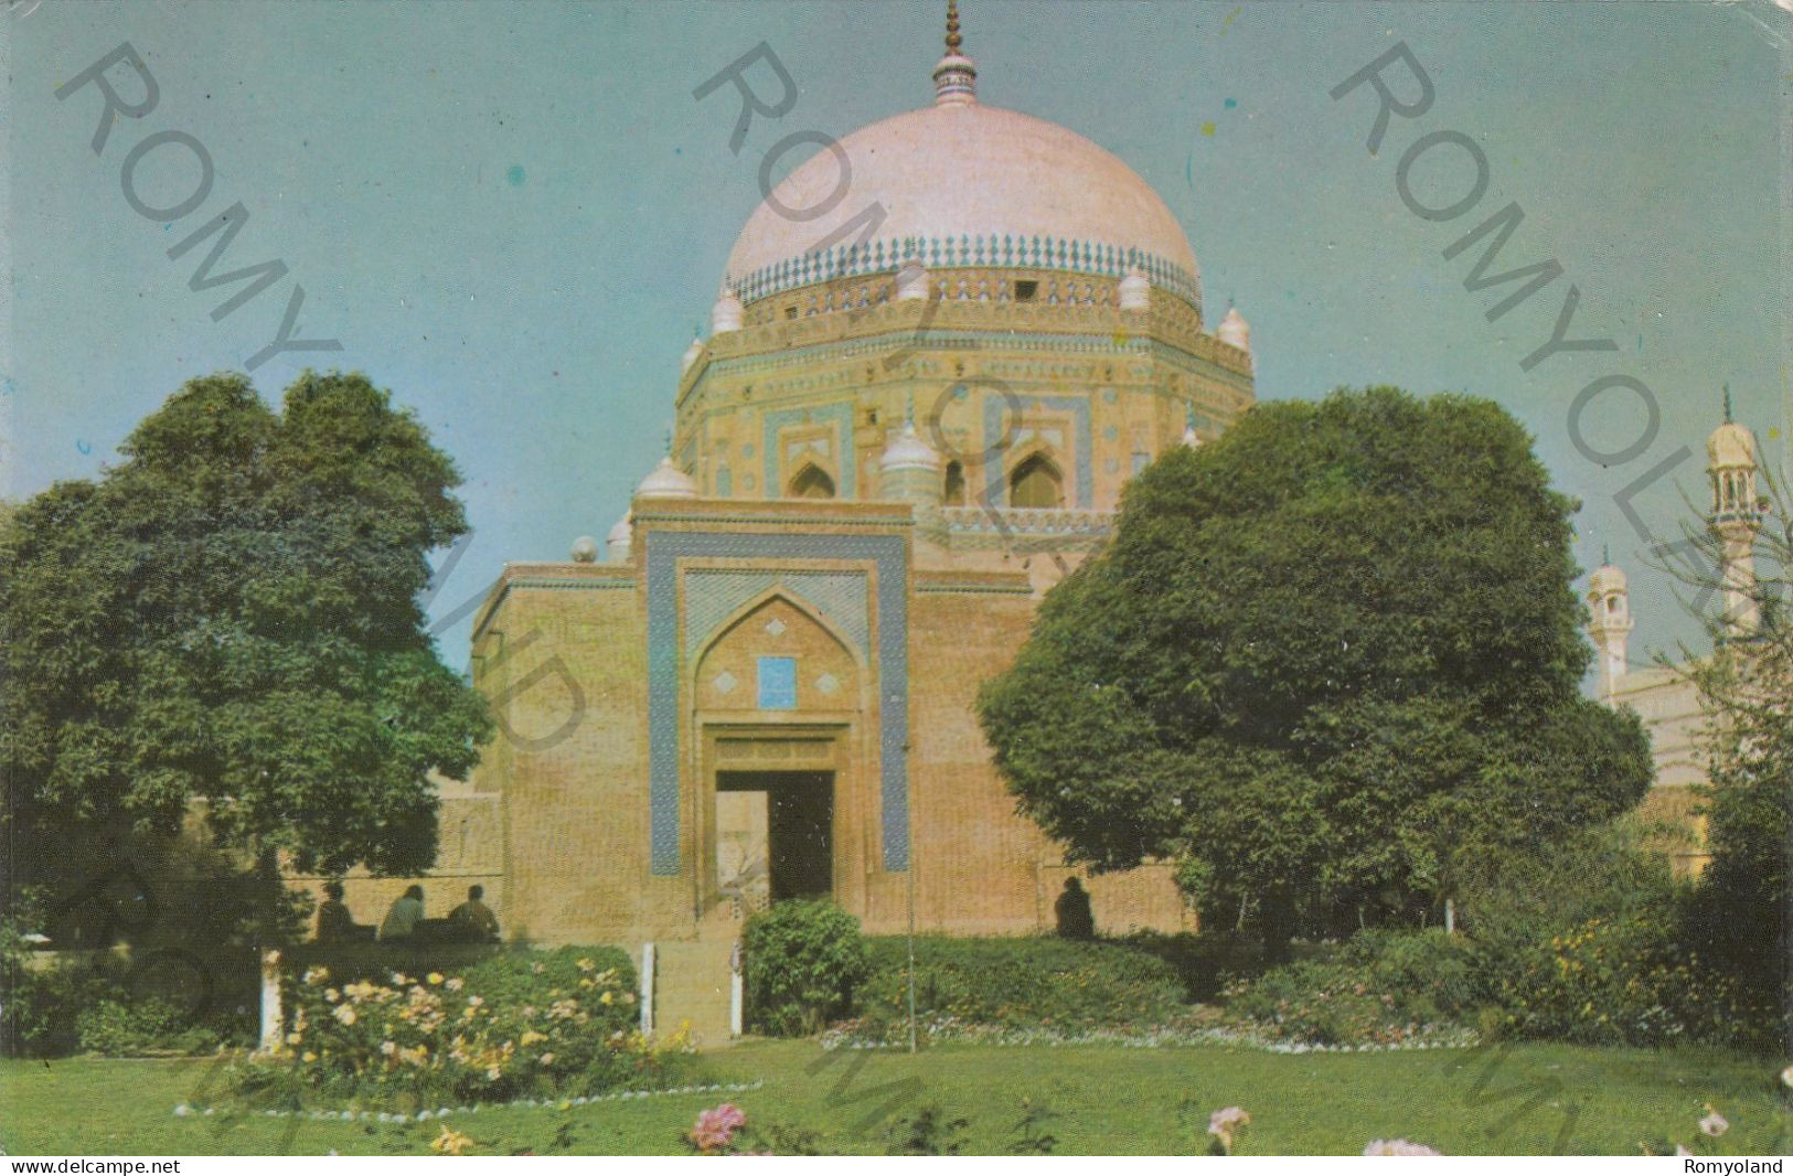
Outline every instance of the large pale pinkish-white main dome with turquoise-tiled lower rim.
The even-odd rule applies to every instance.
[[[873,204],[884,220],[855,249],[866,229],[855,220]],[[827,213],[809,220],[793,215],[821,206]],[[810,253],[837,229],[841,244]],[[975,100],[875,122],[805,160],[748,217],[728,281],[753,301],[895,271],[911,256],[931,269],[1022,265],[1117,278],[1139,264],[1153,285],[1200,303],[1189,238],[1133,169],[1074,131]]]

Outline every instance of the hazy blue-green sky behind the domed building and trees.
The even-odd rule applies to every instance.
[[[278,402],[307,362],[362,369],[466,477],[475,538],[432,613],[455,611],[504,561],[565,558],[574,536],[602,536],[658,457],[680,353],[758,199],[766,149],[927,102],[941,7],[50,0],[0,13],[4,491],[97,473],[186,378],[262,350],[298,283],[298,335],[342,351],[276,355],[253,373],[264,396]],[[1583,563],[1610,543],[1633,570],[1633,662],[1689,635],[1662,577],[1639,566],[1648,540],[1615,495],[1691,446],[1633,500],[1650,534],[1678,532],[1682,493],[1703,497],[1723,382],[1737,416],[1786,452],[1786,11],[966,0],[963,16],[983,100],[1094,138],[1164,195],[1210,317],[1234,299],[1252,321],[1260,398],[1388,382],[1499,400],[1585,502]],[[160,100],[95,156],[97,88],[54,91],[124,41]],[[757,120],[735,156],[730,91],[692,90],[760,41],[800,99]],[[1395,118],[1372,158],[1368,88],[1327,91],[1399,41],[1436,97]],[[108,77],[140,95],[127,66]],[[1408,81],[1400,66],[1388,77]],[[127,152],[161,131],[190,134],[215,169],[208,199],[169,222],[134,212],[120,185]],[[1452,220],[1416,217],[1397,194],[1402,152],[1436,131],[1488,161],[1486,194]],[[145,156],[145,201],[192,190],[183,152]],[[1427,151],[1413,195],[1449,203],[1465,160]],[[249,219],[228,262],[278,258],[289,272],[213,321],[237,287],[188,290],[204,249],[178,262],[167,249],[237,201]],[[1556,258],[1563,278],[1488,323],[1511,287],[1465,290],[1477,249],[1442,251],[1508,201],[1526,220],[1499,267]],[[1571,335],[1619,350],[1522,371],[1571,283]],[[1651,389],[1648,445],[1635,445],[1648,409],[1623,385],[1571,428],[1578,393],[1605,376]],[[464,663],[464,620],[445,629],[443,654]]]

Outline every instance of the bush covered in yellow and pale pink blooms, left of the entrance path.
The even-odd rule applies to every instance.
[[[635,1029],[633,972],[593,956],[559,948],[380,982],[308,968],[292,986],[282,1051],[249,1081],[265,1085],[274,1068],[301,1095],[429,1106],[590,1094],[662,1068],[667,1049]]]

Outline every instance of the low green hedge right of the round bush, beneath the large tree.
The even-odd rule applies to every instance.
[[[1183,1011],[1176,970],[1148,952],[1060,938],[914,941],[920,1020],[1058,1031],[1162,1025]],[[889,1036],[909,1016],[909,947],[871,939],[871,973],[857,1013],[868,1036]]]

